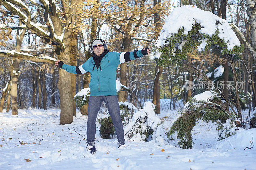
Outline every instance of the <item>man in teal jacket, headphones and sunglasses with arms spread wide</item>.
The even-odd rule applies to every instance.
[[[96,133],[95,122],[102,101],[104,101],[108,107],[116,131],[119,147],[125,147],[124,129],[116,96],[116,69],[121,63],[150,54],[150,49],[143,48],[142,50],[122,53],[112,52],[108,51],[107,43],[102,39],[93,40],[89,48],[92,57],[84,64],[80,66],[70,66],[59,60],[55,62],[55,65],[70,73],[83,74],[90,72],[91,74],[86,141],[87,150],[93,154],[96,152],[94,146]]]

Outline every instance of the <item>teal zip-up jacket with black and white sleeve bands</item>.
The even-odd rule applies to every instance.
[[[116,69],[118,64],[142,57],[140,50],[131,52],[113,52],[109,51],[100,62],[101,70],[96,67],[93,69],[93,57],[90,57],[80,66],[62,65],[62,69],[69,73],[77,74],[90,72],[90,96],[116,95]],[[79,70],[78,70],[79,69]]]

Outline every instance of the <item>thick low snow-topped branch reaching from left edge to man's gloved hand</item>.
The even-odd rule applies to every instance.
[[[20,53],[15,50],[0,50],[0,57],[15,57],[23,60],[30,60],[34,62],[55,63],[56,59],[49,56],[34,56],[28,53]]]

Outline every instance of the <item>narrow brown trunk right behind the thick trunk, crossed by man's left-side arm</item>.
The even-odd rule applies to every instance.
[[[70,65],[77,65],[77,32],[76,29],[73,28],[73,33],[71,34],[70,40]],[[76,74],[70,73],[71,76],[71,89],[72,89],[72,97],[76,95]],[[73,115],[76,116],[76,103],[73,102]]]

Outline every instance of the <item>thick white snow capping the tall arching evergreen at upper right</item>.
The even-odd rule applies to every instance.
[[[221,24],[216,24],[216,20]],[[218,36],[227,43],[227,49],[229,51],[232,51],[234,46],[240,46],[240,41],[232,30],[232,27],[228,25],[227,20],[219,18],[210,11],[200,10],[191,5],[184,5],[174,8],[172,13],[166,18],[165,24],[163,25],[161,33],[156,41],[156,47],[159,48],[166,45],[166,39],[171,37],[173,34],[178,33],[178,30],[181,28],[184,28],[184,34],[187,35],[188,31],[192,29],[193,24],[195,24],[195,21],[203,27],[199,30],[201,34],[204,33],[212,36],[218,29]],[[207,39],[202,39],[200,41],[201,44],[197,47],[198,51],[204,50],[206,40]],[[179,49],[182,49],[184,43],[185,42],[179,45]],[[155,55],[159,59],[161,54],[156,53]]]

